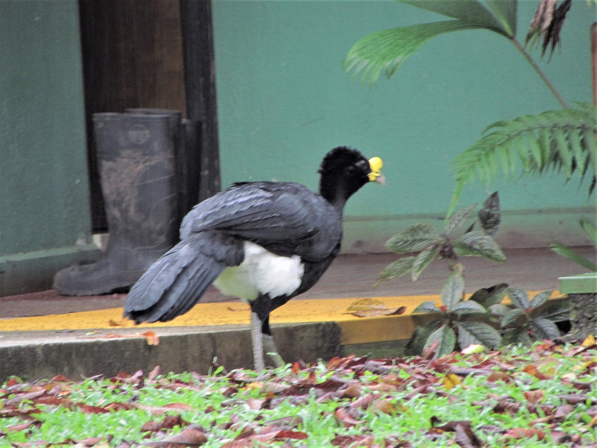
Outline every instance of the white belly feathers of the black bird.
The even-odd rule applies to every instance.
[[[226,268],[214,286],[227,296],[254,300],[259,294],[271,297],[291,294],[300,286],[304,265],[298,255],[282,257],[255,243],[245,241],[245,259]]]

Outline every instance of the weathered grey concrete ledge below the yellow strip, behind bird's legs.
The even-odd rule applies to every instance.
[[[0,382],[11,375],[29,380],[66,375],[114,376],[124,371],[195,371],[209,373],[214,358],[226,369],[253,368],[251,336],[247,326],[169,327],[153,329],[158,345],[149,345],[145,329],[87,332],[0,333]],[[93,333],[93,334],[90,334]],[[117,333],[121,337],[113,337]],[[333,322],[272,326],[273,337],[284,360],[340,355],[340,327]]]

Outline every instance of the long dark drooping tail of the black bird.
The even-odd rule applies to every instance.
[[[227,266],[244,258],[242,242],[217,232],[180,241],[139,278],[124,302],[136,323],[168,321],[189,311]]]

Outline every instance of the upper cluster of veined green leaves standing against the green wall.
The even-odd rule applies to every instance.
[[[438,232],[432,225],[417,223],[394,235],[387,241],[386,247],[398,254],[420,251],[418,255],[404,256],[390,263],[380,273],[377,284],[401,277],[411,272],[414,280],[436,258],[447,259],[454,266],[459,256],[482,256],[495,262],[506,261],[506,256],[493,239],[500,224],[500,198],[497,191],[485,200],[477,217],[480,231],[473,230],[473,223],[463,235],[454,232],[470,216],[477,204],[469,205],[457,211],[447,220],[444,231]]]

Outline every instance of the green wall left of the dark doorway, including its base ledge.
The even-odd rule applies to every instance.
[[[93,259],[76,0],[0,2],[0,295]]]

